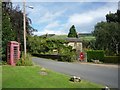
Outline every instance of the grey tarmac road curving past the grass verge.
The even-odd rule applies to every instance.
[[[79,76],[84,80],[118,88],[118,67],[100,66],[81,63],[57,62],[43,58],[33,58],[36,64],[50,70],[71,76]]]

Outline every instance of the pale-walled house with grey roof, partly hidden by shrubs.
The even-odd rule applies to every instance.
[[[73,49],[82,52],[82,42],[79,38],[66,38],[66,41],[68,41],[68,46],[72,46]]]

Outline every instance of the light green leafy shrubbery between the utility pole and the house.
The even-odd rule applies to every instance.
[[[29,36],[27,47],[28,51],[32,54],[52,54],[54,49],[58,52],[60,48],[65,47],[65,40],[47,39],[39,36]]]

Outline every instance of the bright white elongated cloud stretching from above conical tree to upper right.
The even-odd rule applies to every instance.
[[[108,4],[104,7],[98,8],[96,10],[91,10],[91,11],[84,12],[84,13],[73,14],[69,17],[68,23],[75,24],[75,25],[90,24],[99,18],[105,19],[105,15],[108,14],[109,11],[115,12],[116,10],[117,10],[117,7],[115,6],[115,4],[114,4],[114,6],[110,6]]]

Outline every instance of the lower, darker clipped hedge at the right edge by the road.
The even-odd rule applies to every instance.
[[[105,56],[104,57],[104,63],[114,63],[114,64],[117,64],[117,63],[120,63],[120,56]]]

